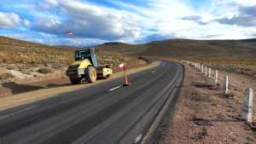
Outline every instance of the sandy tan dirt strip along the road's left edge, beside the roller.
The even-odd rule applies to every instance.
[[[128,75],[131,73],[135,73],[135,72],[141,72],[143,70],[146,70],[148,68],[153,68],[155,66],[158,66],[159,62],[155,61],[153,63],[151,63],[150,65],[147,66],[140,66],[137,68],[132,68],[128,70]],[[113,73],[112,77],[109,79],[114,79],[114,78],[120,78],[123,76],[123,72],[116,72]],[[68,82],[67,78],[61,78],[58,79],[58,81],[56,81],[56,79],[52,79],[51,80],[54,84],[55,83],[62,83],[62,85],[56,84],[56,87],[52,87],[52,88],[48,88],[45,87],[45,89],[42,89],[42,86],[39,86],[40,89],[36,89],[30,92],[24,92],[22,94],[18,94],[18,95],[9,95],[6,97],[0,97],[0,110],[2,109],[6,109],[6,108],[10,108],[10,107],[16,107],[16,106],[20,106],[22,104],[26,104],[32,101],[39,101],[39,100],[43,100],[55,95],[59,95],[61,93],[67,93],[68,91],[72,91],[75,89],[82,89],[82,88],[86,88],[86,87],[90,87],[92,85],[95,84],[101,84],[104,83],[108,80],[106,79],[102,79],[97,81],[95,84],[78,84],[78,85],[71,85]],[[47,82],[49,83],[49,82]],[[37,86],[34,85],[35,88],[37,88]]]

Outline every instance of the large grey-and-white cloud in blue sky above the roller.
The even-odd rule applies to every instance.
[[[75,37],[127,39],[131,42],[135,42],[142,32],[140,24],[143,17],[125,10],[74,0],[59,0],[55,7],[61,14],[65,14],[65,19],[41,18],[36,22],[37,26],[33,26],[35,30],[60,35],[72,29]]]

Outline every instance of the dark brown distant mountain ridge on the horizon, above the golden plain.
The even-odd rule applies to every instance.
[[[97,49],[123,55],[179,57],[252,57],[256,55],[256,39],[190,40],[167,39],[145,44],[105,43]]]

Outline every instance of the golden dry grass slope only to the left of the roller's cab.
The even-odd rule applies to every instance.
[[[0,37],[0,64],[66,65],[73,60],[73,50],[27,43],[8,37]]]

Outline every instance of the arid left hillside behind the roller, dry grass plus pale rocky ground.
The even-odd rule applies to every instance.
[[[76,48],[29,43],[9,37],[0,37],[0,82],[23,82],[64,76],[67,66],[73,62]],[[117,66],[130,60],[121,55],[102,55],[102,64]]]

